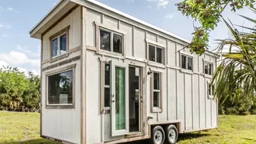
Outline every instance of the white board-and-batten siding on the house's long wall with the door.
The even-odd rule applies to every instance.
[[[104,24],[117,30],[126,32],[126,59],[140,59],[139,62],[146,68],[162,72],[162,97],[163,111],[162,113],[151,112],[150,98],[150,77],[146,75],[146,117],[153,117],[149,122],[161,122],[168,120],[181,120],[181,133],[204,130],[216,127],[216,101],[208,98],[206,81],[210,82],[203,74],[203,59],[214,63],[213,54],[204,53],[202,56],[190,54],[189,49],[183,49],[186,44],[182,40],[167,36],[161,31],[154,30],[124,18],[120,14],[108,11],[105,8],[97,7],[91,3],[82,2],[85,5],[85,24],[86,24],[86,45],[89,47],[96,46],[96,30],[94,22]],[[151,40],[165,46],[165,67],[156,67],[148,65],[146,62],[147,50],[146,40]],[[95,47],[96,49],[96,47]],[[183,49],[183,50],[182,50]],[[193,55],[194,70],[193,72],[183,72],[180,66],[180,53]],[[104,114],[102,117],[100,112],[101,91],[95,91],[95,88],[101,88],[100,75],[101,64],[99,61],[101,55],[94,51],[87,50],[87,142],[97,143],[102,140],[102,120],[104,120],[104,141],[113,141],[123,139],[123,136],[110,136],[110,114]],[[106,59],[116,59],[105,55]],[[132,61],[132,60],[131,60]],[[143,62],[144,61],[144,62]],[[148,125],[146,122],[146,135],[148,133]]]

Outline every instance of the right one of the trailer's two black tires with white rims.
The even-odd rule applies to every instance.
[[[178,130],[176,126],[165,126],[165,142],[168,144],[175,144],[178,141]]]

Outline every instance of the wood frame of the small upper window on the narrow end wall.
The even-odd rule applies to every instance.
[[[49,37],[50,40],[50,60],[55,59],[62,59],[63,57],[69,56],[69,28],[65,27],[62,30],[59,30],[56,34],[53,34],[51,37]],[[66,53],[60,53],[59,55],[53,56],[53,40],[57,38],[58,40],[58,51],[60,51],[60,37],[64,36],[66,34]]]

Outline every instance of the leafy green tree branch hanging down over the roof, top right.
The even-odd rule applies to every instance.
[[[227,6],[231,7],[232,11],[236,11],[244,7],[254,8],[254,3],[255,0],[183,0],[176,4],[178,11],[200,23],[200,27],[194,26],[194,37],[187,45],[190,47],[190,52],[199,55],[205,52],[210,30],[214,30],[222,20],[222,12]]]

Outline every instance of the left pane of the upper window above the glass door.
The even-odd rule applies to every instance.
[[[100,30],[101,50],[110,51],[110,32]]]

